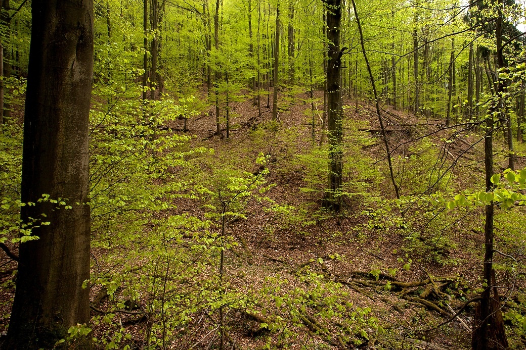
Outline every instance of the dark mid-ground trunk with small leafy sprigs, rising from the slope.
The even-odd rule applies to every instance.
[[[327,4],[327,139],[329,141],[329,183],[323,197],[324,208],[339,211],[341,206],[342,100],[340,23],[341,0],[326,0]]]

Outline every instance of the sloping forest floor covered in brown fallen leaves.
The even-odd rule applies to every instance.
[[[321,95],[317,97],[322,99]],[[327,151],[318,147],[321,112],[315,116],[313,139],[308,96],[283,96],[282,100],[287,102],[281,106],[279,123],[270,122],[271,109],[266,108],[266,101],[262,101],[261,118],[251,101],[233,104],[228,140],[211,136],[215,131],[213,108],[208,115],[187,120],[188,134],[195,135],[191,144],[214,149],[213,155],[196,160],[198,167],[211,171],[217,164],[228,164],[255,172],[260,169],[255,160],[263,152],[270,156],[266,164],[267,183],[276,185],[265,195],[288,208],[284,212],[268,212],[265,201],[251,200],[244,210],[246,219],[232,220],[227,226],[227,234],[237,243],[225,252],[225,273],[230,285],[249,290],[263,285],[269,276],[295,281],[298,271],[309,266],[310,271],[325,276],[327,281],[340,283],[347,302],[353,305],[351,309],[366,310],[355,317],[365,320],[362,323],[368,335],[356,331],[346,348],[470,348],[472,305],[447,325],[437,325],[448,320],[453,310],[458,310],[471,297],[470,293],[481,286],[482,210],[457,216],[444,214],[432,221],[424,215],[423,204],[415,199],[406,203],[409,209],[400,222],[376,111],[369,102],[347,100],[343,182],[348,194],[340,213],[322,211]],[[386,128],[395,149],[396,176],[402,179],[403,194],[418,198],[434,181],[444,193],[480,186],[483,144],[468,146],[478,140],[475,132],[462,132],[462,140],[453,142],[446,142],[448,130],[422,138],[438,130],[442,121],[415,117],[387,105],[382,106],[382,111],[388,121]],[[182,129],[183,123],[174,120],[166,126]],[[498,161],[504,169],[503,157]],[[440,180],[437,173],[444,173],[452,164],[453,177]],[[525,166],[526,159],[518,156],[517,169]],[[204,217],[204,209],[193,201],[177,199],[175,204],[178,213]],[[15,264],[0,255],[0,266],[0,329],[5,330]],[[97,294],[98,290],[92,290],[92,301]],[[450,307],[447,299],[451,296]],[[279,306],[275,308],[278,312]],[[312,316],[317,309],[311,308],[296,323],[291,321],[290,328],[297,333],[288,347],[342,348],[341,338],[328,337],[334,333],[337,322],[317,323]],[[376,319],[375,326],[368,324],[370,317]],[[260,324],[267,321],[264,316],[232,313],[228,320],[228,341],[236,344],[232,348],[264,348],[269,336],[259,336]],[[187,336],[177,342],[172,339],[171,346],[214,348],[210,346],[213,337],[208,336],[209,327],[199,322],[190,323]],[[509,333],[513,347],[526,344],[525,338]],[[276,338],[279,334],[270,336]]]

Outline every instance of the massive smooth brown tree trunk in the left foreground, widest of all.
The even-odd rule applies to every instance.
[[[88,118],[92,0],[33,0],[24,120],[21,218],[49,221],[20,245],[6,349],[53,348],[89,321]],[[38,202],[43,194],[71,209]],[[85,347],[88,347],[86,344]],[[77,348],[80,348],[78,346]]]

